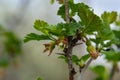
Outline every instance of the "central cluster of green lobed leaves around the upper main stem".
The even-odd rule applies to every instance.
[[[78,40],[84,41],[87,35],[93,35],[94,32],[98,33],[104,28],[101,18],[94,14],[93,10],[84,3],[75,4],[73,1],[69,1],[69,11],[71,20],[69,24],[58,23],[57,25],[49,25],[45,21],[36,20],[34,28],[42,32],[42,34],[30,33],[25,37],[24,42],[31,40],[51,40],[55,45],[59,46],[59,43],[61,43],[57,43],[59,39],[63,41],[71,36],[73,40],[76,39],[76,42]],[[61,5],[57,14],[65,20],[64,4]],[[80,21],[74,19],[75,15],[80,18]],[[66,45],[66,43],[63,44]],[[49,50],[51,51],[50,48]]]

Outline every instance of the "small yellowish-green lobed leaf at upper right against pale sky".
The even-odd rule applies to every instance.
[[[112,11],[112,12],[104,12],[103,14],[102,14],[102,19],[103,19],[103,21],[105,22],[105,23],[107,23],[107,24],[111,24],[111,23],[113,23],[113,22],[115,22],[116,21],[116,19],[117,19],[117,12],[115,12],[115,11]]]

